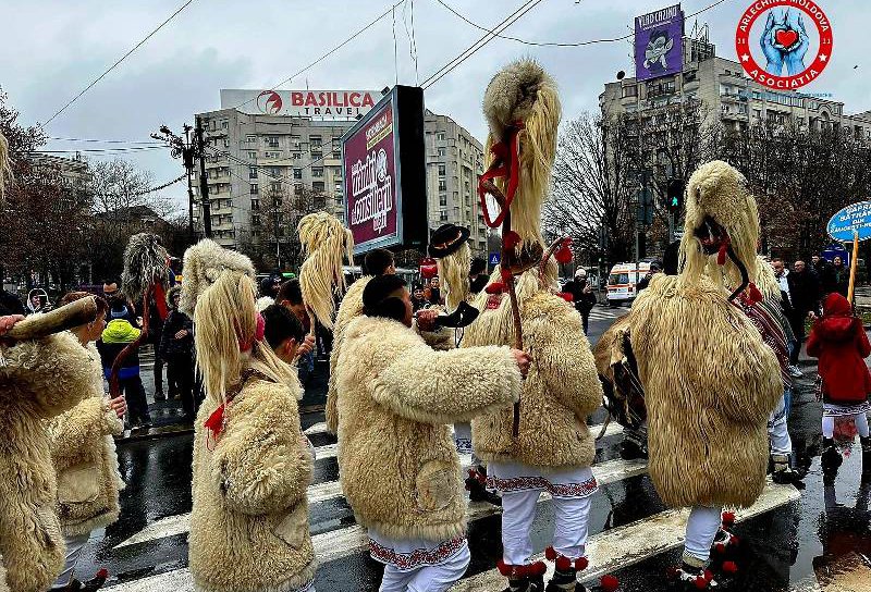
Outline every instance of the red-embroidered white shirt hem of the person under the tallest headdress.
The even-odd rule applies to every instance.
[[[549,470],[519,462],[490,462],[487,486],[498,492],[547,491],[553,497],[589,497],[599,490],[589,467]]]

